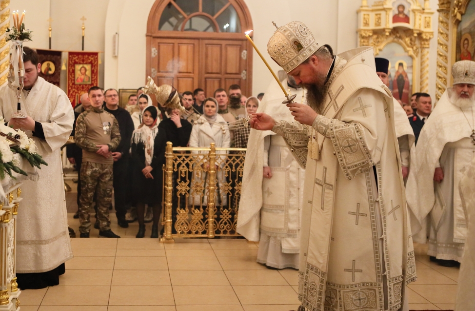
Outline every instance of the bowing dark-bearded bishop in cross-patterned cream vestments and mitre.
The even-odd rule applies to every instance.
[[[408,310],[416,280],[391,91],[372,47],[334,56],[308,27],[277,29],[267,51],[307,90],[288,104],[297,122],[257,113],[306,167],[300,230],[303,310]],[[307,152],[308,148],[308,152]]]

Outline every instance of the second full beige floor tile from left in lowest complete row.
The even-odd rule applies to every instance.
[[[131,293],[137,293],[139,299],[133,299]],[[112,286],[111,306],[173,306],[171,286]]]

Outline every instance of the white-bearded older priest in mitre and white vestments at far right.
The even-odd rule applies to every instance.
[[[458,185],[475,154],[475,62],[455,62],[452,76],[454,86],[442,94],[417,142],[420,216],[430,215],[428,254],[445,267],[461,262],[467,236]]]

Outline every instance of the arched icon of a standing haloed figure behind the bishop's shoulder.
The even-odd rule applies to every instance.
[[[396,100],[410,104],[413,81],[413,58],[396,43],[387,44],[377,55],[389,60],[389,89]]]

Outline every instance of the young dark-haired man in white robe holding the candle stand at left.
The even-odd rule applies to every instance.
[[[41,67],[36,52],[27,47],[24,51],[25,88],[20,102],[28,118],[11,118],[17,112],[17,98],[8,85],[0,89],[0,115],[33,138],[48,163],[38,170],[38,182],[25,181],[21,187],[23,200],[17,216],[17,282],[20,289],[34,289],[58,285],[64,262],[73,258],[60,147],[72,131],[74,112],[59,87],[38,77]]]

